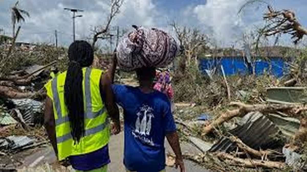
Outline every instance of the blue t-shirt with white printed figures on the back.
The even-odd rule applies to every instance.
[[[137,172],[165,169],[165,134],[176,131],[169,99],[158,91],[146,94],[125,85],[112,88],[116,102],[124,109],[126,168]]]

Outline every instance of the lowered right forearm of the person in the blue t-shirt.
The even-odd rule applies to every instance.
[[[181,172],[185,172],[177,131],[172,133],[167,133],[166,138],[176,155],[176,166],[179,165]]]

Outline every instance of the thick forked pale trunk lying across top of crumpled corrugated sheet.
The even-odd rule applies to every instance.
[[[216,128],[218,125],[223,122],[227,122],[234,117],[243,117],[245,114],[252,111],[259,111],[261,113],[273,113],[276,111],[290,110],[295,106],[291,105],[273,105],[273,104],[256,104],[256,105],[247,105],[240,102],[231,102],[230,106],[238,106],[239,109],[227,110],[219,118],[211,122],[203,129],[202,136],[208,134],[212,129]]]

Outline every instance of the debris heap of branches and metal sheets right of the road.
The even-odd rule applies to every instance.
[[[189,70],[174,88],[176,102],[190,103],[176,103],[174,117],[181,141],[201,153],[185,153],[186,159],[212,171],[307,170],[307,82],[298,69],[279,79]]]

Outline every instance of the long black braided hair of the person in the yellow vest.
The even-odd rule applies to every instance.
[[[72,138],[75,144],[84,136],[84,102],[82,67],[93,63],[94,52],[86,41],[75,41],[68,49],[69,65],[64,85],[64,100],[68,109],[68,118]]]

